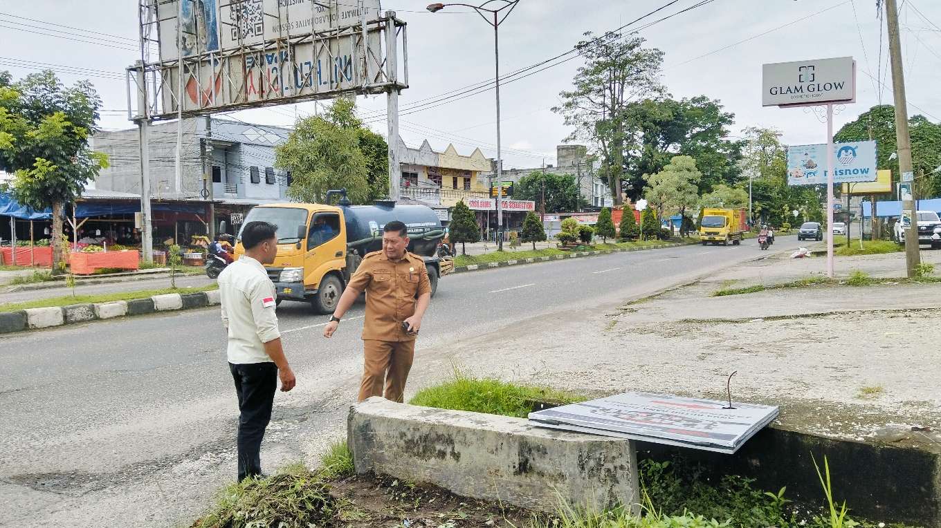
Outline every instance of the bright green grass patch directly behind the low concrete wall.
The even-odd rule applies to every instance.
[[[584,397],[545,387],[476,379],[455,372],[454,380],[424,388],[408,403],[453,411],[486,412],[525,418],[533,411],[534,402],[567,404],[584,400]]]

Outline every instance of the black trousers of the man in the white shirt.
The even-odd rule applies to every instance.
[[[278,366],[271,362],[229,364],[238,395],[238,479],[262,474],[262,439],[271,420]]]

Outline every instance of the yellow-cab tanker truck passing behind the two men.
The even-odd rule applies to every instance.
[[[382,226],[391,220],[407,225],[408,251],[423,256],[434,294],[439,277],[453,271],[454,264],[435,256],[444,232],[435,211],[429,208],[392,202],[352,206],[344,196],[338,207],[309,203],[257,206],[248,211],[245,224],[261,221],[278,226],[278,256],[265,266],[277,290],[277,303],[311,303],[314,312],[330,314],[362,257],[382,248]],[[240,233],[235,256],[244,253]]]

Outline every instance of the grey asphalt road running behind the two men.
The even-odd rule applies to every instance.
[[[793,237],[773,246],[795,247]],[[423,349],[648,295],[762,255],[745,241],[445,277],[413,376]],[[263,444],[269,470],[316,463],[343,434],[361,372],[361,303],[331,340],[321,335],[326,318],[307,304],[282,303],[279,319],[297,387],[276,396]],[[188,525],[234,479],[236,403],[217,309],[0,338],[0,365],[0,525]]]

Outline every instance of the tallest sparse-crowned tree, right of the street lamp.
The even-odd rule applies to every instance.
[[[664,92],[663,52],[643,47],[644,42],[636,34],[606,33],[595,39],[585,33],[585,40],[575,45],[585,64],[575,73],[573,89],[560,93],[563,102],[553,108],[575,128],[569,139],[589,141],[598,150],[600,172],[608,179],[615,205],[621,204],[625,173],[627,106]]]

